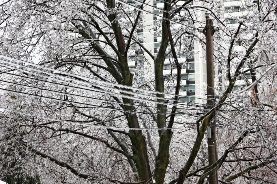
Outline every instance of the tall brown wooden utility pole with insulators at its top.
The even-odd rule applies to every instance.
[[[207,52],[207,107],[209,109],[214,107],[215,94],[214,94],[214,47],[213,35],[218,28],[213,26],[213,20],[210,19],[209,13],[205,13],[206,26],[204,29],[199,30],[206,35],[206,52]],[[209,166],[217,161],[217,146],[216,146],[216,127],[214,122],[210,121],[207,127],[208,137],[208,155]],[[209,175],[209,184],[218,184],[217,172]]]

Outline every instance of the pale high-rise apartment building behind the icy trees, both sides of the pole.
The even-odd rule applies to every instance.
[[[221,2],[221,10],[222,10],[222,20],[228,19],[225,21],[228,26],[238,26],[237,19],[240,16],[246,14],[247,8],[242,8],[243,1],[238,0],[223,0]],[[129,0],[129,4],[139,7],[141,3],[137,0]],[[183,2],[178,2],[178,5],[181,5]],[[145,5],[145,9],[148,11],[153,12],[154,14],[145,13],[143,12],[141,18],[143,19],[142,23],[139,24],[139,29],[137,30],[137,36],[139,38],[140,43],[144,45],[146,49],[152,52],[153,55],[158,53],[158,48],[160,47],[161,42],[161,27],[160,24],[162,22],[162,11],[161,9],[164,7],[164,2],[162,0],[150,0]],[[135,9],[134,7],[130,6],[131,9]],[[151,10],[149,10],[151,9]],[[205,9],[194,9],[194,14],[197,16],[197,21],[205,23]],[[130,16],[132,16],[130,14]],[[180,18],[180,17],[179,17]],[[176,19],[178,20],[178,16]],[[199,24],[196,22],[199,27],[203,26],[203,24]],[[183,69],[181,71],[181,90],[180,95],[188,96],[180,98],[181,101],[184,102],[197,102],[197,98],[205,98],[205,91],[206,91],[206,83],[207,83],[207,76],[206,76],[206,53],[205,53],[205,46],[200,42],[192,41],[190,45],[186,45],[186,50],[182,50],[181,46],[176,44],[175,49],[179,53],[179,63],[182,64]],[[183,46],[184,47],[184,46]],[[236,47],[241,47],[240,43],[236,43]],[[149,63],[149,74],[154,73],[154,63],[153,60],[146,54],[141,51],[139,47],[133,48],[134,55],[130,57],[129,65],[130,67],[136,67],[140,62],[143,61],[143,57],[145,57]],[[170,78],[169,75],[174,76],[177,74],[177,70],[174,69],[174,66],[171,66],[173,59],[169,56],[166,56],[164,62],[164,77],[165,82],[167,79]],[[215,70],[215,77],[218,77],[220,71],[216,68]],[[245,74],[242,78],[240,77],[235,84],[233,90],[237,90],[239,87],[245,85],[245,79],[251,78],[250,73]],[[222,81],[223,80],[223,81]],[[229,84],[224,80],[224,78],[219,77],[218,80],[220,83],[223,83],[223,88],[228,86]]]

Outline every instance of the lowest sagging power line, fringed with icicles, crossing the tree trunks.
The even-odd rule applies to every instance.
[[[93,125],[93,124],[58,120],[58,119],[55,119],[55,118],[48,118],[48,117],[44,117],[44,116],[30,114],[30,113],[27,113],[27,112],[12,110],[12,109],[4,108],[4,107],[1,107],[1,106],[0,106],[0,109],[4,109],[4,110],[9,111],[9,112],[16,112],[16,113],[27,115],[27,116],[34,116],[34,117],[42,118],[42,119],[45,119],[45,120],[52,120],[52,121],[57,121],[57,122],[71,123],[71,124],[78,124],[78,125],[87,125],[88,127],[96,127],[96,128],[101,128],[101,129],[112,129],[112,130],[171,130],[171,129],[184,129],[184,127],[179,127],[179,128],[178,127],[177,128],[130,128],[130,127],[102,126],[102,125]]]

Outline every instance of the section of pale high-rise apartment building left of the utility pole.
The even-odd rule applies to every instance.
[[[139,7],[141,5],[135,0],[129,0],[128,3],[136,7]],[[137,30],[137,36],[144,47],[151,51],[153,55],[155,55],[156,53],[158,53],[158,48],[160,47],[161,42],[160,24],[162,22],[163,12],[160,9],[163,8],[164,2],[152,0],[149,1],[147,4],[150,6],[147,7],[146,5],[145,8],[152,9],[152,12],[154,14],[147,14],[143,12],[143,23],[139,24],[141,28]],[[177,4],[181,5],[181,2]],[[131,6],[130,8],[134,7]],[[200,11],[199,16],[202,16],[202,19],[205,21],[204,12]],[[186,50],[183,50],[178,43],[175,47],[175,49],[178,50],[178,61],[183,66],[183,69],[181,71],[180,95],[188,96],[180,98],[179,100],[184,102],[194,102],[195,97],[201,96],[201,90],[199,89],[203,89],[203,84],[206,82],[206,65],[205,60],[203,60],[204,50],[199,43],[194,43],[194,41],[192,41],[190,45],[186,45],[185,48]],[[151,72],[153,73],[153,60],[147,54],[143,55],[139,47],[133,49],[135,50],[134,57],[130,58],[129,65],[131,67],[135,67],[139,64],[140,61],[142,61],[143,57],[146,57],[146,59],[148,59],[148,61],[150,62],[149,74],[151,74]],[[177,70],[174,69],[174,66],[171,66],[172,62],[173,58],[170,58],[169,55],[166,56],[163,68],[165,82],[167,82],[167,80],[171,79],[172,77],[174,78],[174,75],[177,74]]]

